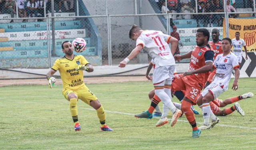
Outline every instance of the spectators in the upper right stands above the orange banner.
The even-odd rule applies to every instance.
[[[167,0],[167,5],[165,0],[155,0],[157,6],[160,8],[162,13],[184,13],[188,10],[191,13],[196,12],[196,2],[195,0]],[[253,10],[253,0],[243,0],[244,8],[252,8]],[[161,5],[162,4],[162,5]],[[166,8],[167,6],[167,8]],[[166,11],[167,10],[167,11]],[[197,1],[197,12],[198,13],[211,13],[211,12],[224,12],[224,0],[198,0]],[[226,12],[236,12],[236,1],[226,0]],[[177,18],[179,15],[177,15]],[[229,14],[229,18],[236,18],[238,14]],[[184,16],[181,16],[184,19]],[[196,14],[191,15],[197,22],[197,26],[200,27],[199,20],[202,21],[204,27],[212,27],[214,23],[220,24],[223,21],[224,14]],[[175,18],[176,19],[176,18]]]

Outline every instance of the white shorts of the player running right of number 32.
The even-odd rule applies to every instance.
[[[216,99],[218,96],[220,96],[222,93],[224,93],[226,90],[222,89],[219,83],[211,83],[208,85],[204,91],[202,91],[201,95],[204,97],[206,93],[210,92],[213,96],[213,99]]]

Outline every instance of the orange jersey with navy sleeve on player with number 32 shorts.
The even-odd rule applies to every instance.
[[[188,71],[193,71],[196,69],[199,69],[205,65],[206,62],[212,62],[213,63],[213,56],[214,52],[212,50],[212,47],[208,44],[204,47],[198,47],[196,45],[195,49],[192,51],[190,64]],[[199,74],[193,74],[187,77],[188,81],[194,82],[195,84],[199,84],[200,87],[204,87],[204,84],[207,81],[209,73],[199,73]]]

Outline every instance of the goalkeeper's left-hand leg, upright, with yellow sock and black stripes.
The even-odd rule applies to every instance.
[[[72,119],[74,121],[74,128],[75,128],[75,131],[79,131],[81,130],[81,127],[78,122],[78,109],[77,109],[78,97],[74,91],[68,90],[68,89],[63,91],[62,94],[68,101],[70,101],[69,109],[70,109],[70,114],[72,116]]]

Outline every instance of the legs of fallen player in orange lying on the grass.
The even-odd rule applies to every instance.
[[[242,108],[240,107],[240,104],[237,101],[240,101],[242,99],[248,99],[253,96],[254,96],[253,93],[248,92],[248,93],[244,93],[243,95],[225,99],[224,101],[216,98],[210,102],[210,107],[211,107],[212,113],[214,113],[216,116],[226,116],[228,114],[233,113],[234,111],[237,111],[242,116],[244,116],[245,115],[244,111],[242,110]],[[232,104],[232,103],[235,103],[235,105],[223,110],[220,109],[220,107],[225,107],[226,105]]]

